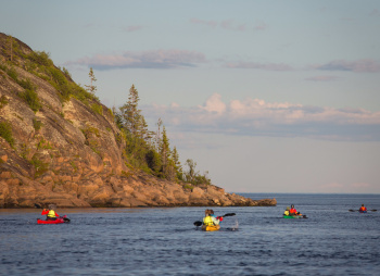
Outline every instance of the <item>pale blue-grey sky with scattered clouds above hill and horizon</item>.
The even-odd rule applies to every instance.
[[[229,192],[380,193],[380,1],[0,0],[0,32],[109,108],[139,92]],[[186,171],[187,167],[183,166]]]

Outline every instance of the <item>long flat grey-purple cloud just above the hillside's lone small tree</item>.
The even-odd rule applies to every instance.
[[[125,51],[113,54],[94,54],[66,65],[87,65],[97,70],[114,68],[177,68],[192,67],[206,61],[203,53],[185,50]]]

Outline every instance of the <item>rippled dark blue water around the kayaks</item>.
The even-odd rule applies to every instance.
[[[215,208],[237,214],[216,233],[193,226],[205,208],[0,210],[0,275],[380,275],[380,195],[244,196],[278,205]],[[292,203],[309,218],[281,218]]]

